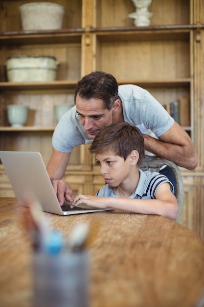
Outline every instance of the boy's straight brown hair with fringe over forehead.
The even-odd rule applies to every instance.
[[[137,127],[123,122],[115,123],[95,136],[89,150],[96,154],[110,150],[124,160],[136,150],[139,153],[137,167],[141,167],[144,158],[144,138]]]

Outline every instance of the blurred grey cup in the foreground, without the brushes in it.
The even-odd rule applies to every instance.
[[[88,307],[89,254],[33,256],[34,307]]]

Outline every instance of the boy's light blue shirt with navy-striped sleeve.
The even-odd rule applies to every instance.
[[[164,183],[169,182],[171,192],[174,193],[174,186],[169,181],[169,179],[156,172],[143,172],[142,170],[138,169],[139,171],[139,181],[136,186],[135,191],[131,196],[128,198],[132,199],[156,199],[155,193],[158,189],[158,187]],[[102,196],[102,197],[114,197],[114,198],[120,198],[120,196],[115,195],[113,193],[112,187],[108,184],[105,184],[99,191],[96,193],[96,196]]]

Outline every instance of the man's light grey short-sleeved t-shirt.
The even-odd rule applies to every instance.
[[[132,85],[118,86],[125,122],[137,126],[142,133],[153,133],[159,137],[174,124],[174,119],[164,107],[146,90]],[[77,145],[90,144],[90,139],[81,125],[73,106],[57,124],[53,137],[53,147],[63,153],[70,153]]]

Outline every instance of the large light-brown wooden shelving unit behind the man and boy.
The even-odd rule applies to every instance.
[[[56,125],[53,106],[73,103],[78,79],[94,70],[112,73],[119,84],[139,85],[162,104],[188,96],[190,122],[184,129],[199,164],[195,172],[182,171],[185,193],[179,223],[204,240],[204,0],[154,0],[148,8],[153,13],[149,27],[136,27],[128,17],[136,10],[131,0],[56,0],[66,9],[63,28],[27,32],[19,14],[25,2],[0,1],[0,150],[39,151],[47,164]],[[56,80],[7,82],[5,60],[15,54],[55,56],[60,62]],[[9,127],[6,105],[11,103],[30,108],[23,130]],[[94,194],[102,185],[99,171],[97,178],[91,175],[92,182],[85,178],[84,172],[95,170],[91,161],[87,146],[74,149],[64,176],[74,193]],[[69,176],[69,171],[75,174]],[[14,196],[1,170],[0,196]]]

